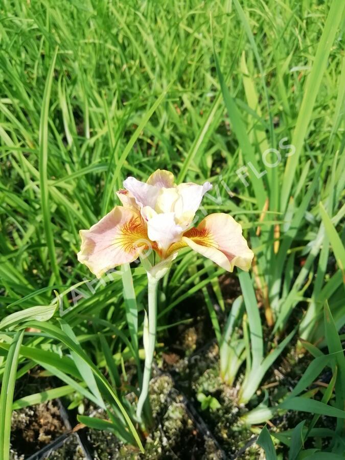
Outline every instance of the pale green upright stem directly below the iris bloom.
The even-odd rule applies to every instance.
[[[157,288],[159,279],[154,278],[147,273],[148,284],[148,339],[147,343],[144,340],[145,348],[145,366],[143,374],[143,384],[141,394],[136,407],[136,417],[141,420],[142,411],[149,393],[149,383],[151,377],[152,361],[154,348],[156,343],[156,328],[157,328]],[[145,331],[144,331],[145,334]]]

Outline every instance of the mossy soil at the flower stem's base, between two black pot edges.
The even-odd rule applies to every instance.
[[[152,411],[155,428],[146,438],[145,454],[124,445],[108,431],[87,431],[87,440],[93,450],[91,455],[99,460],[128,459],[186,459],[218,460],[212,439],[205,438],[189,413],[186,402],[173,387],[170,376],[158,375],[150,384]],[[92,411],[95,417],[104,417],[102,410]]]

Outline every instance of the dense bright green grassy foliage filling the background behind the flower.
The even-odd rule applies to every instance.
[[[246,201],[254,200],[251,188],[244,187],[236,175],[244,153],[238,148],[223,102],[215,104],[219,83],[210,13],[220,66],[224,75],[231,74],[227,84],[241,116],[248,121],[256,150],[260,140],[253,126],[261,125],[257,128],[261,132],[269,130],[270,118],[275,139],[288,137],[291,141],[328,12],[327,2],[246,2],[264,67],[264,75],[260,75],[231,2],[144,2],[139,8],[135,2],[5,2],[3,7],[1,270],[13,300],[47,284],[61,284],[60,280],[63,285],[73,284],[86,274],[75,258],[78,231],[116,204],[114,187],[121,187],[129,174],[144,179],[160,167],[178,175],[187,159],[185,178],[204,180],[222,173],[228,187],[243,195],[242,208]],[[305,163],[311,162],[303,188],[326,154],[327,171],[340,142],[333,132],[342,57],[339,35],[337,38],[297,165],[296,177]],[[39,130],[44,85],[56,47],[51,106],[44,113],[48,136],[42,146]],[[248,77],[241,59],[246,61]],[[247,95],[245,78],[253,84]],[[262,80],[269,96],[269,113]],[[170,83],[166,98],[124,158],[122,153],[135,128]],[[209,124],[202,132],[208,116]],[[277,147],[277,141],[272,145]],[[44,231],[48,216],[41,208],[42,148],[47,155],[49,233],[54,235],[49,244],[54,245],[57,270],[48,257]],[[278,184],[283,169],[282,162],[272,171]],[[258,210],[257,203],[253,204]],[[224,206],[230,208],[231,204]],[[255,222],[257,215],[247,219]]]

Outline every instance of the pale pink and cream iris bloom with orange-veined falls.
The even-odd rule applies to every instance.
[[[185,246],[227,271],[235,266],[249,269],[253,252],[231,216],[210,214],[193,226],[203,195],[212,189],[210,182],[176,185],[171,172],[157,169],[146,182],[128,177],[123,185],[117,192],[122,206],[80,231],[78,260],[97,278],[133,262],[147,249],[156,252],[160,266],[168,267]]]

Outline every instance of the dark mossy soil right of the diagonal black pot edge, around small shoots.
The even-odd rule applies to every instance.
[[[220,279],[219,281],[225,305],[232,304],[234,298],[240,294],[238,280],[225,277],[224,280]],[[210,295],[212,298],[212,292]],[[222,325],[226,320],[226,313],[224,314],[215,299],[213,300],[214,308]],[[233,387],[229,387],[221,381],[219,377],[219,350],[204,302],[195,298],[194,302],[189,300],[183,304],[186,305],[179,306],[178,311],[174,310],[174,318],[177,317],[178,321],[186,318],[186,315],[187,317],[190,315],[192,321],[188,326],[180,324],[169,329],[169,335],[164,337],[166,349],[157,358],[161,369],[163,372],[171,373],[175,387],[191,401],[228,458],[255,460],[264,458],[263,450],[255,443],[257,437],[255,433],[260,432],[264,423],[254,427],[253,430],[242,422],[241,416],[247,410],[257,407],[264,399],[265,392],[269,397],[269,406],[277,405],[300,380],[312,357],[309,354],[297,355],[296,338],[294,338],[271,366],[250,403],[246,407],[238,406],[236,397],[241,378],[243,378],[241,377],[241,372],[244,372],[243,366]],[[268,337],[270,329],[265,326],[263,309],[261,309],[261,315],[264,325],[263,333],[265,337]],[[295,322],[292,321],[291,330],[294,324]],[[289,328],[288,332],[290,332]],[[269,350],[266,350],[267,352]],[[328,383],[330,376],[320,376],[320,380],[324,378]],[[220,408],[202,410],[197,399],[200,393],[215,398],[220,403]],[[318,399],[318,395],[315,396],[315,399]],[[294,428],[302,420],[310,420],[311,417],[310,413],[286,411],[283,415],[273,418],[269,428],[273,431],[277,430],[277,432],[288,430]],[[332,429],[334,424],[335,419],[320,417],[316,426]],[[312,441],[312,439],[307,440],[306,447],[313,447]],[[277,452],[281,453],[283,458],[288,456],[287,448],[282,445]]]

